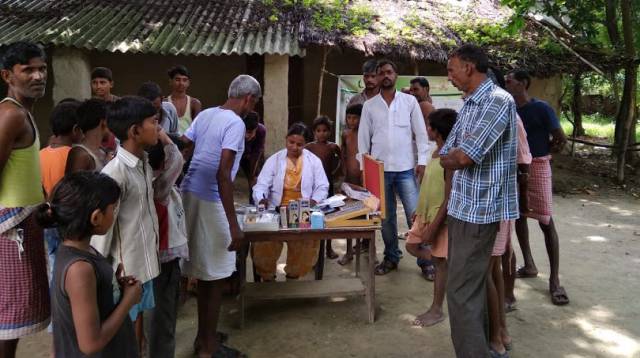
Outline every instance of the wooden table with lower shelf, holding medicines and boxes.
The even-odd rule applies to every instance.
[[[280,231],[245,232],[249,242],[259,241],[296,241],[296,240],[330,240],[330,239],[362,239],[369,241],[369,260],[366,279],[360,275],[360,244],[356,241],[356,262],[353,278],[338,278],[316,281],[286,282],[246,282],[247,251],[240,258],[240,327],[244,326],[244,311],[247,300],[279,300],[290,298],[318,298],[335,296],[364,296],[367,302],[369,322],[375,321],[375,259],[376,230],[379,226],[341,227],[325,229],[284,229]],[[323,262],[318,262],[318,265]]]

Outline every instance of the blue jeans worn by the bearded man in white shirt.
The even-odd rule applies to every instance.
[[[418,185],[413,169],[403,172],[384,172],[384,195],[386,218],[382,221],[384,259],[393,263],[400,261],[402,251],[398,248],[398,217],[396,215],[396,193],[404,207],[407,226],[411,227],[411,215],[418,203]]]

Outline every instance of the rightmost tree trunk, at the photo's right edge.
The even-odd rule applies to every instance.
[[[617,149],[617,170],[616,177],[619,183],[624,182],[624,170],[626,167],[626,152],[629,146],[631,128],[635,120],[636,94],[638,84],[638,65],[634,63],[635,46],[633,38],[633,5],[632,0],[620,1],[620,14],[622,15],[622,34],[624,37],[624,88],[622,90],[622,101],[620,111],[616,118],[616,127],[620,126],[620,141],[615,143]],[[617,132],[617,131],[616,131]],[[616,133],[618,134],[618,133]]]

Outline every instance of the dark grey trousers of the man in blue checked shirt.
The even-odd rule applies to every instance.
[[[472,224],[448,217],[447,304],[458,358],[489,357],[487,275],[500,223]]]

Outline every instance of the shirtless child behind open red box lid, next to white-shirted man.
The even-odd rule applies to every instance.
[[[342,172],[344,182],[362,185],[362,171],[358,162],[358,126],[360,126],[360,115],[362,105],[355,104],[347,107],[346,122],[347,129],[342,132]],[[368,244],[369,241],[365,241]],[[338,260],[340,265],[346,265],[353,260],[353,246],[351,239],[347,239],[347,252]]]

